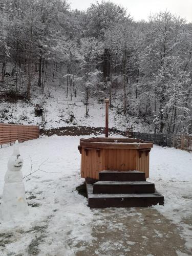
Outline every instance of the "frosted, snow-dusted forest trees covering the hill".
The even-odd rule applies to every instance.
[[[191,54],[192,24],[167,10],[136,22],[113,2],[0,1],[0,88],[28,99],[57,81],[70,100],[108,97],[154,133],[191,134]]]

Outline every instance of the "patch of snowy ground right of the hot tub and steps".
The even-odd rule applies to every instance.
[[[192,153],[175,148],[154,146],[150,155],[150,179],[164,195],[164,207],[154,206],[167,219],[176,223],[186,247],[192,249],[190,226],[192,209]]]

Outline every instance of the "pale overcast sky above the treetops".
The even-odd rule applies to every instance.
[[[69,2],[72,9],[85,10],[92,3],[96,3],[96,0],[69,0]],[[180,15],[187,22],[192,22],[192,0],[113,0],[112,2],[123,6],[135,20],[147,20],[150,13],[167,10]],[[98,0],[98,3],[101,3],[101,0]]]

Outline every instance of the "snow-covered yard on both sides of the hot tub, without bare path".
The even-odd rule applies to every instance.
[[[19,145],[24,158],[24,176],[30,173],[31,159],[32,170],[38,169],[42,163],[41,171],[24,179],[30,215],[20,222],[1,221],[0,255],[76,255],[77,251],[83,250],[83,244],[94,241],[91,223],[96,225],[98,221],[98,225],[102,225],[105,220],[96,220],[94,210],[87,206],[87,199],[75,190],[83,182],[77,150],[79,139],[52,136]],[[12,150],[12,146],[0,149],[0,196]],[[154,207],[177,224],[188,251],[192,244],[191,164],[191,153],[154,146],[148,179],[155,182],[165,198],[164,206]],[[130,218],[136,211],[129,212]],[[121,215],[120,209],[117,212]]]

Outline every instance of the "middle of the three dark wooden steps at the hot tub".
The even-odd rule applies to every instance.
[[[94,194],[142,194],[154,193],[155,184],[147,181],[97,181]]]

